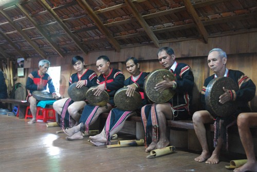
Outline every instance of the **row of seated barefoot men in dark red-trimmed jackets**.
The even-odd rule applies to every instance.
[[[255,85],[252,80],[241,71],[228,70],[226,68],[227,55],[222,49],[212,49],[208,54],[208,66],[214,73],[206,78],[203,89],[201,90],[201,102],[205,108],[205,91],[208,83],[216,77],[229,77],[238,84],[239,90],[228,90],[223,88],[224,93],[219,97],[219,103],[224,104],[229,101],[236,101],[238,107],[235,113],[228,117],[213,117],[206,109],[197,111],[192,115],[192,92],[194,76],[191,68],[185,63],[176,62],[176,55],[172,48],[163,47],[157,52],[160,65],[174,74],[175,80],[170,80],[163,76],[163,81],[155,85],[156,91],[162,92],[167,89],[175,91],[174,96],[165,103],[150,103],[143,89],[145,78],[148,72],[141,72],[138,59],[129,57],[125,61],[126,70],[131,74],[125,79],[123,73],[118,69],[110,67],[111,62],[105,55],[99,56],[96,60],[96,67],[99,76],[93,71],[85,68],[84,59],[80,56],[72,58],[72,65],[77,73],[72,74],[69,85],[77,82],[76,87],[88,88],[95,96],[100,96],[106,91],[109,101],[105,106],[93,106],[86,100],[73,101],[70,98],[63,98],[53,103],[53,108],[61,115],[61,127],[67,135],[67,140],[83,139],[83,133],[89,132],[89,127],[93,124],[100,114],[109,113],[102,132],[96,136],[90,136],[90,142],[96,146],[111,144],[111,136],[119,132],[125,120],[130,116],[138,115],[142,117],[145,132],[145,152],[150,152],[156,148],[163,148],[170,144],[167,137],[167,119],[185,120],[193,119],[195,133],[199,139],[203,152],[195,161],[209,164],[219,162],[219,153],[223,144],[227,144],[227,127],[233,123],[238,125],[238,130],[246,151],[248,162],[234,171],[257,171],[257,162],[253,151],[252,136],[249,131],[250,126],[257,125],[257,113],[250,113],[248,101],[255,95]],[[53,97],[58,98],[55,93],[50,76],[46,73],[50,66],[48,60],[39,62],[39,71],[34,71],[28,76],[26,88],[30,93],[34,90],[45,90],[48,84],[49,91]],[[133,96],[137,91],[140,93],[142,103],[138,105],[136,111],[124,111],[115,107],[115,93],[126,87],[126,96]],[[28,101],[33,118],[28,123],[34,123],[36,113],[36,100],[29,94]],[[80,115],[79,111],[83,109]],[[215,121],[215,122],[214,122]],[[214,132],[214,151],[210,154],[206,139],[205,123],[213,123]]]

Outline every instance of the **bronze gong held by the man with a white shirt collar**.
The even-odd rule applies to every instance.
[[[144,80],[144,93],[155,103],[165,103],[169,101],[174,95],[175,91],[172,89],[163,90],[162,92],[155,90],[155,85],[163,81],[163,76],[170,80],[175,80],[175,75],[167,69],[157,69],[152,71]]]

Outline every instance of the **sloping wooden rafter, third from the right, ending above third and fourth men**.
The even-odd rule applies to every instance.
[[[103,25],[100,18],[96,13],[91,9],[85,0],[76,0],[78,4],[87,12],[89,17],[95,22],[98,29],[106,36],[107,40],[112,44],[116,51],[120,51],[120,45],[118,41],[113,37],[111,32]]]

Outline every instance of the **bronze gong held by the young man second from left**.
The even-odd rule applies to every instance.
[[[76,87],[77,82],[74,82],[69,85],[68,95],[73,101],[83,101],[86,99],[86,92],[88,90],[87,87],[82,86],[81,88]]]

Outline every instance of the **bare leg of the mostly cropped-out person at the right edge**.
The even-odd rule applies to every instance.
[[[247,163],[234,172],[257,171],[257,161],[254,155],[253,139],[249,126],[257,126],[257,113],[242,113],[237,117],[237,126],[240,139],[245,149]]]

